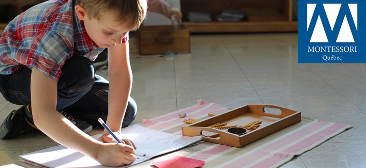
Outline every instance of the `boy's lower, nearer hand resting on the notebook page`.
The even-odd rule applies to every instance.
[[[132,146],[122,143],[103,143],[97,156],[97,161],[109,167],[129,165],[136,160]]]

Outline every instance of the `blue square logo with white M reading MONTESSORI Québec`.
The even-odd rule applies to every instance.
[[[366,0],[299,0],[299,62],[366,62]]]

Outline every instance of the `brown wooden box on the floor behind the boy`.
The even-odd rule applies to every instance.
[[[140,55],[164,54],[165,52],[189,53],[189,30],[172,26],[141,26],[135,33]]]

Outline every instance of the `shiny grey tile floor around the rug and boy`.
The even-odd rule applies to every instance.
[[[190,57],[131,58],[131,65],[134,123],[198,99],[231,108],[274,104],[353,126],[283,168],[366,167],[366,64],[298,63],[297,33],[192,35]],[[106,70],[97,73],[107,78]],[[1,96],[0,122],[17,107]],[[0,140],[0,166],[31,167],[18,155],[55,145],[40,132]]]

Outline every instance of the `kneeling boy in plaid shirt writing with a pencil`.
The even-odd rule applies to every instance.
[[[2,123],[0,138],[37,128],[102,165],[132,163],[135,144],[120,135],[137,111],[128,32],[145,13],[146,0],[49,0],[13,19],[0,38],[0,91],[22,106]],[[109,83],[91,62],[107,47]],[[99,117],[125,144],[111,143],[106,130],[98,141],[85,133],[101,127]]]

